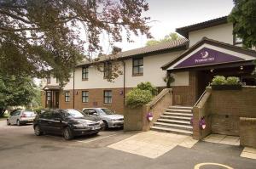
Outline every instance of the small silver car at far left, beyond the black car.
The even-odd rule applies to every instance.
[[[26,123],[32,123],[36,117],[36,113],[32,110],[15,110],[9,114],[7,125],[20,126]]]

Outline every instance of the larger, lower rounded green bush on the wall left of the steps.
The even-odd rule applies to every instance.
[[[127,94],[125,104],[131,108],[136,108],[137,106],[148,104],[151,99],[153,99],[153,95],[149,90],[133,88],[131,92]]]

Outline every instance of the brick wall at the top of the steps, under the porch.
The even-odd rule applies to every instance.
[[[194,105],[198,98],[198,79],[196,71],[189,71],[189,86],[177,86],[173,89],[173,104]],[[180,99],[180,103],[179,103]]]

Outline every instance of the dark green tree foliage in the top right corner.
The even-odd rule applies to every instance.
[[[235,7],[229,16],[234,24],[233,34],[242,39],[246,48],[256,46],[256,1],[234,0]]]

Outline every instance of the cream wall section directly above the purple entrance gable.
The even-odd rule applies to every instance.
[[[189,32],[189,47],[199,42],[202,37],[208,37],[220,42],[226,42],[233,45],[233,25],[232,23],[217,25],[198,31]]]

